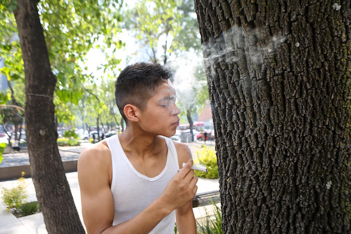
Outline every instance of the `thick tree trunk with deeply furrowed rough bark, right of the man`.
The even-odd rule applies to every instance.
[[[195,1],[224,233],[350,233],[351,8],[337,3]]]

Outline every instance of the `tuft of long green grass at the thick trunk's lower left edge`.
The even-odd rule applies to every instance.
[[[222,211],[221,208],[218,207],[217,204],[213,204],[215,206],[215,215],[211,216],[206,211],[206,220],[205,223],[197,222],[198,233],[209,233],[209,234],[222,234]]]

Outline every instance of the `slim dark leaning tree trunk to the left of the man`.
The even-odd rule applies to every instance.
[[[51,72],[38,1],[19,0],[15,17],[26,80],[26,134],[33,183],[49,233],[84,233],[56,143]]]

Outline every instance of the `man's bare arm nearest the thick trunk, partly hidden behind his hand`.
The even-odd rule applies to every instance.
[[[181,168],[183,162],[187,162],[189,159],[192,159],[192,153],[186,144],[175,143],[175,147],[177,149],[178,161]],[[194,179],[198,181],[197,177],[194,177]],[[177,221],[177,229],[180,234],[197,233],[196,221],[193,212],[193,199],[184,206],[175,209],[175,220]]]

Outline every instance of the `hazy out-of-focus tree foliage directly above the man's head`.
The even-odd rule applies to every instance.
[[[198,21],[191,0],[139,0],[124,11],[125,28],[134,33],[148,60],[166,64],[171,55],[199,53]]]

